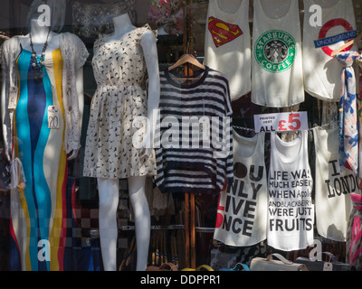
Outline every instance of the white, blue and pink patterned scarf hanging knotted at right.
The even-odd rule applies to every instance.
[[[339,100],[339,165],[345,169],[358,172],[358,127],[356,77],[352,68],[358,57],[356,51],[338,53],[335,58],[342,65]]]

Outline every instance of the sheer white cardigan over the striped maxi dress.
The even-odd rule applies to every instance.
[[[60,47],[62,50],[62,102],[65,111],[64,147],[67,154],[81,147],[78,94],[75,83],[75,71],[79,70],[87,60],[89,53],[81,39],[72,33],[60,33]],[[17,94],[18,79],[16,73],[16,59],[21,52],[20,36],[6,40],[0,48],[0,60],[3,68],[3,77],[7,77],[5,84],[5,107],[8,105],[10,91]],[[12,144],[12,119],[9,109],[5,112],[4,137],[7,144]]]

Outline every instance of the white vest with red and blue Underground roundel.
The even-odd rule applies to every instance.
[[[352,0],[304,0],[303,74],[305,90],[322,100],[340,98],[340,65],[330,55],[332,51],[356,37],[356,22]],[[321,7],[318,14],[313,5]],[[316,18],[317,17],[317,18]],[[321,18],[321,23],[313,21]],[[348,47],[356,50],[354,44]]]

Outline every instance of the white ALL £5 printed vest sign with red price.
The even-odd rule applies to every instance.
[[[308,130],[306,111],[254,116],[255,132],[286,132]]]

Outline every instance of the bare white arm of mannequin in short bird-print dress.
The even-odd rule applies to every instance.
[[[144,137],[142,147],[145,148],[144,155],[151,153],[154,143],[155,129],[157,125],[157,110],[159,105],[160,83],[158,70],[158,55],[155,34],[147,31],[141,39],[141,46],[145,55],[148,70],[148,124],[147,133]]]

